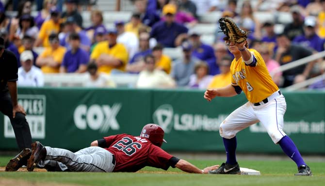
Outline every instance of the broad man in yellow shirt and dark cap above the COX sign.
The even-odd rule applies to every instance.
[[[111,73],[113,69],[125,71],[128,62],[128,51],[123,44],[116,43],[117,31],[109,30],[108,41],[97,44],[90,59],[96,62],[98,72]]]

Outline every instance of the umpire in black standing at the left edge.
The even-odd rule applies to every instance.
[[[4,49],[4,40],[0,37],[0,111],[9,117],[21,151],[31,148],[32,136],[25,118],[25,110],[17,103],[17,71],[16,56]]]

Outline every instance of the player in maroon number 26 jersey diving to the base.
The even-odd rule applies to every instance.
[[[208,173],[219,166],[198,169],[191,163],[169,155],[160,147],[164,131],[157,124],[146,124],[140,136],[119,134],[95,140],[91,147],[72,153],[65,149],[44,147],[36,141],[32,150],[24,149],[9,161],[6,171],[16,171],[27,163],[27,170],[35,166],[55,171],[135,172],[150,166],[167,170],[177,167],[190,173]],[[27,160],[28,159],[28,160]]]

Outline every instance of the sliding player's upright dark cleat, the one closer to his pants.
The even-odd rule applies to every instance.
[[[32,143],[32,155],[27,161],[27,171],[33,171],[37,163],[46,157],[46,149],[39,141]]]

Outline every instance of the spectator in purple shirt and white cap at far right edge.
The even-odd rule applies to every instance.
[[[303,47],[310,47],[320,52],[324,50],[324,39],[320,38],[316,33],[316,17],[307,16],[304,22],[304,34],[296,36],[293,43]]]

